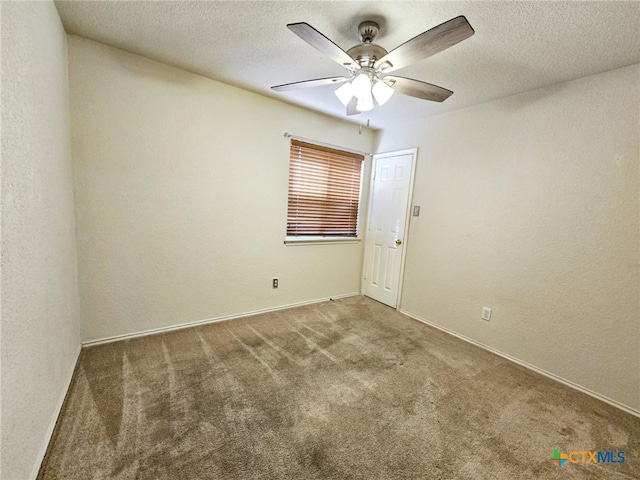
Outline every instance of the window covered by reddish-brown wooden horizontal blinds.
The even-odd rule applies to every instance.
[[[291,141],[287,237],[356,238],[364,155]]]

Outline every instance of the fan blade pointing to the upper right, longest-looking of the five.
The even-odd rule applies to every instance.
[[[452,47],[474,33],[464,16],[452,18],[391,50],[377,60],[373,68],[385,73],[398,70]]]

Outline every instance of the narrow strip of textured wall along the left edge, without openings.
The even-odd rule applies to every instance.
[[[2,3],[2,462],[34,478],[80,348],[66,34]]]

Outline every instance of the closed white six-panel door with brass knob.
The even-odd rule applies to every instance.
[[[416,149],[373,156],[363,293],[396,308]]]

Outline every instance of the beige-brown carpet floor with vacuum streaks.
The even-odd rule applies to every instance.
[[[84,349],[38,478],[637,479],[640,419],[352,297]]]

